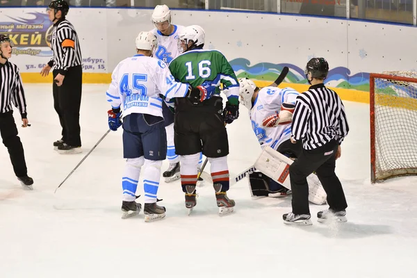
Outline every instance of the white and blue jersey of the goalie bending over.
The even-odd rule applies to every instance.
[[[249,116],[252,129],[262,148],[270,146],[272,149],[277,149],[281,142],[291,137],[291,123],[277,127],[265,127],[262,126],[262,122],[266,117],[279,113],[282,103],[295,104],[297,95],[300,95],[300,93],[289,87],[284,89],[265,87],[259,90],[254,105],[249,111]]]

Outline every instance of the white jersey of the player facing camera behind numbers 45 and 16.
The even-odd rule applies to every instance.
[[[174,31],[171,35],[163,35],[157,28],[152,29],[152,33],[156,35],[158,40],[158,48],[155,51],[154,57],[163,60],[167,65],[170,65],[174,58],[179,56],[179,33],[185,28],[181,25],[173,25]]]

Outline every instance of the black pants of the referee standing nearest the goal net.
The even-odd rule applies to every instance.
[[[334,169],[338,142],[331,141],[317,149],[303,149],[302,154],[290,166],[291,190],[293,191],[293,213],[310,214],[309,186],[306,177],[316,172],[327,193],[329,209],[342,211],[347,208],[345,193]]]

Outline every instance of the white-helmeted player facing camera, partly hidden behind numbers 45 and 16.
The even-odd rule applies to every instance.
[[[157,5],[152,13],[152,22],[155,27],[152,33],[156,35],[158,47],[154,56],[170,65],[174,58],[180,54],[178,48],[179,33],[184,26],[171,24],[171,11],[166,5]],[[163,104],[163,115],[165,118],[165,129],[167,131],[167,159],[170,162],[168,169],[163,172],[166,182],[179,179],[179,156],[175,154],[174,146],[174,113]],[[200,156],[201,163],[202,157]]]

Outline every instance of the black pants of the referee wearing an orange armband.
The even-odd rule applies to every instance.
[[[58,71],[54,70],[54,79]],[[72,147],[81,147],[80,106],[83,85],[81,65],[70,67],[65,74],[63,85],[54,82],[54,108],[63,128],[62,139]]]

